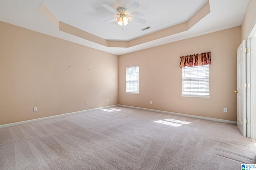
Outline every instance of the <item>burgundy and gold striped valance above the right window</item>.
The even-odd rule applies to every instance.
[[[180,57],[180,68],[184,66],[193,67],[193,66],[202,66],[202,65],[211,65],[211,52],[186,55]]]

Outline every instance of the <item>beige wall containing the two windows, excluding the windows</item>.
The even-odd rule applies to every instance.
[[[236,121],[236,49],[241,27],[138,51],[119,58],[119,104]],[[211,51],[211,98],[181,97],[180,56]],[[140,94],[125,94],[126,66],[140,65]],[[152,100],[152,104],[150,104]],[[223,107],[228,112],[223,112]]]

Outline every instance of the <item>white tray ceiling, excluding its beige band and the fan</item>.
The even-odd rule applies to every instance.
[[[0,0],[0,21],[122,55],[239,26],[248,5],[248,0],[209,0],[211,12],[188,31],[129,48],[106,47],[59,31],[38,11],[44,3],[59,21],[106,40],[130,41],[188,21],[208,0],[136,0],[140,7],[130,16],[145,19],[145,24],[129,21],[126,25],[127,31],[122,31],[117,21],[101,24],[103,21],[116,18],[116,15],[102,7],[102,4],[117,9],[128,8],[133,2],[134,0]],[[141,30],[148,26],[150,29]]]

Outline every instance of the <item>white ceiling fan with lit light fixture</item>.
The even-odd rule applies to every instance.
[[[118,15],[118,17],[116,17],[116,18],[112,18],[110,20],[103,21],[102,24],[110,23],[110,22],[117,20],[118,24],[122,26],[122,30],[124,30],[124,25],[127,25],[128,21],[135,21],[135,22],[142,23],[142,24],[146,23],[146,20],[129,16],[132,12],[134,12],[134,10],[136,10],[140,6],[140,4],[138,2],[133,2],[127,9],[124,7],[120,7],[117,10],[115,10],[114,8],[110,7],[107,4],[102,4],[102,6],[104,8],[106,8],[107,10]]]

